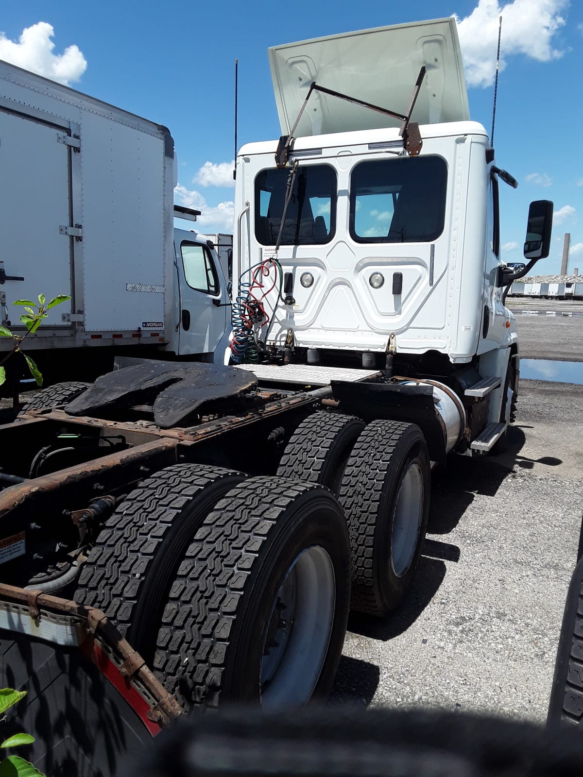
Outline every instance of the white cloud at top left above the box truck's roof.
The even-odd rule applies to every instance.
[[[62,54],[53,54],[52,37],[54,29],[47,22],[26,27],[18,43],[0,33],[0,59],[61,84],[79,81],[87,68],[86,58],[77,46],[68,46]]]

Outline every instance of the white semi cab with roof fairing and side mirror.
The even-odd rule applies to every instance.
[[[236,160],[232,361],[278,383],[334,384],[351,366],[385,371],[387,389],[431,386],[446,451],[490,451],[518,387],[504,291],[547,255],[552,203],[531,205],[530,261],[508,269],[499,181],[518,184],[470,121],[455,21],[269,55],[282,137]],[[393,395],[384,412],[416,420]]]

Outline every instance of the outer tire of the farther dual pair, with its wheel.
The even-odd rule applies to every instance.
[[[376,420],[348,459],[340,506],[352,548],[351,608],[383,617],[413,580],[429,516],[431,468],[421,429]]]

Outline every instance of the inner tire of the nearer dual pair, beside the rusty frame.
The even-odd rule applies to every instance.
[[[75,601],[103,610],[147,664],[185,552],[243,473],[178,464],[156,472],[107,519],[83,564]]]

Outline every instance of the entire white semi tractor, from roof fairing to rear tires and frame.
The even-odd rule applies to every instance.
[[[133,364],[40,392],[0,428],[0,581],[26,601],[58,595],[53,613],[67,599],[102,611],[135,652],[93,672],[96,688],[123,692],[145,665],[186,711],[325,697],[349,607],[386,617],[407,595],[431,462],[503,448],[518,390],[503,302],[518,277],[488,216],[498,180],[515,180],[467,116],[455,22],[290,44],[271,61],[282,127],[304,134],[237,156],[236,366]],[[298,99],[306,72],[330,89]],[[348,77],[363,103],[379,89],[385,104],[387,83],[398,105],[418,97],[421,126],[328,100]],[[548,255],[551,221],[551,203],[531,204],[520,273]],[[46,619],[6,622],[5,678],[49,692],[37,667],[62,671],[64,648],[30,618]],[[52,713],[31,694],[12,725],[30,709],[47,772],[66,759],[114,772],[123,737],[82,736],[82,709],[63,713],[59,693]],[[146,702],[149,720],[159,690]]]

